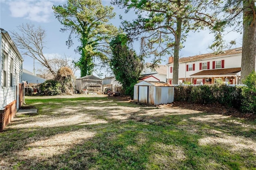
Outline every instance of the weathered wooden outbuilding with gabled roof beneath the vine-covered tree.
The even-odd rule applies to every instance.
[[[76,79],[76,92],[102,94],[102,79],[94,75],[88,75]]]

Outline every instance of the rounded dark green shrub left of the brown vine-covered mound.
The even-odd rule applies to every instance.
[[[61,94],[61,84],[56,80],[46,80],[40,84],[40,95],[55,96]]]

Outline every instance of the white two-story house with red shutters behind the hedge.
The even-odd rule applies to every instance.
[[[238,84],[241,72],[242,48],[226,50],[220,54],[208,53],[179,59],[179,83]],[[167,64],[168,83],[172,84],[173,57]]]

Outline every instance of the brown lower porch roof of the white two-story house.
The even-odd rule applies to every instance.
[[[215,70],[203,70],[192,74],[190,76],[206,76],[206,75],[222,75],[222,74],[236,74],[241,71],[241,68],[224,68]]]

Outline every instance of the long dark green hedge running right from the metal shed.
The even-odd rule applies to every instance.
[[[256,90],[248,86],[226,84],[175,86],[174,101],[199,104],[218,102],[225,106],[238,108],[244,113],[256,114]]]

